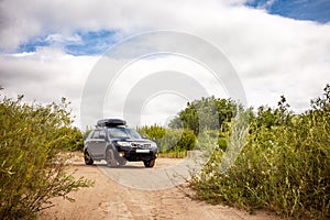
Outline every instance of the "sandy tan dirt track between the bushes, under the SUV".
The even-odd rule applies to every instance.
[[[75,160],[72,166],[76,169],[75,176],[94,179],[95,186],[70,193],[75,202],[62,198],[54,199],[55,207],[43,210],[38,219],[275,219],[275,216],[265,211],[252,216],[227,206],[212,206],[194,200],[187,196],[191,195],[191,190],[183,185],[163,188],[157,185],[151,187],[153,190],[139,189],[139,184],[150,183],[147,175],[153,175],[153,172],[164,173],[166,167],[173,167],[179,162],[173,158],[157,158],[154,168],[144,168],[142,162],[109,168],[105,163],[86,166],[82,158]],[[122,176],[124,179],[121,179]],[[139,184],[124,186],[124,182],[121,180],[130,180],[127,176],[132,176],[131,180]]]

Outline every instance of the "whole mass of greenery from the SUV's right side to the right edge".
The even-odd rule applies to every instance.
[[[245,119],[240,134],[237,117]],[[330,218],[330,85],[300,114],[289,110],[284,96],[277,108],[255,111],[210,97],[188,103],[169,127],[140,130],[156,140],[163,156],[184,157],[195,145],[212,148],[210,140],[218,140],[210,161],[190,182],[197,198],[251,212],[266,208],[290,218]],[[246,140],[240,141],[244,132]],[[227,157],[230,146],[242,143],[242,151]],[[226,163],[232,166],[223,169]]]

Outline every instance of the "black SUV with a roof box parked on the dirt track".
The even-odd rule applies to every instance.
[[[143,139],[125,127],[120,119],[105,119],[97,123],[85,141],[84,158],[86,165],[106,160],[108,166],[125,165],[127,162],[143,161],[145,167],[155,165],[157,145]]]

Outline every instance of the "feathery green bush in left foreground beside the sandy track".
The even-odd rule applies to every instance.
[[[0,216],[33,219],[52,206],[53,197],[90,186],[67,174],[63,150],[81,146],[81,135],[70,127],[65,99],[41,106],[2,98],[0,102]]]

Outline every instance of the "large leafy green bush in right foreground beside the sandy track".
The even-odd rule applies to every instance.
[[[330,86],[301,114],[278,107],[252,109],[246,144],[234,165],[221,172],[232,122],[200,174],[190,182],[196,196],[251,211],[266,208],[285,217],[326,219],[330,213]]]

